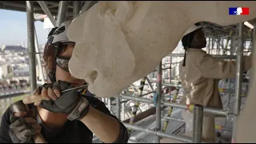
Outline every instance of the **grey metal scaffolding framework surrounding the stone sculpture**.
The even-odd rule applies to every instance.
[[[73,18],[76,18],[79,14],[79,11],[85,11],[90,7],[92,1],[86,1],[84,3],[84,5],[82,6],[82,2],[81,1],[74,1],[73,2]],[[62,22],[65,22],[67,15],[69,14],[69,2],[68,1],[60,1],[59,2],[59,6],[58,6],[58,14],[57,14],[57,20],[55,21],[54,16],[51,14],[53,12],[51,12],[49,10],[49,8],[46,5],[45,1],[38,1],[39,6],[41,6],[42,11],[47,14],[48,18],[50,18],[50,21],[54,24],[54,26],[59,26]],[[48,2],[48,4],[50,4]],[[56,5],[56,3],[52,3],[52,5]],[[30,87],[31,87],[31,92],[33,92],[33,90],[37,87],[37,83],[36,83],[36,61],[35,61],[35,39],[37,38],[35,36],[35,30],[34,30],[34,2],[30,2],[30,1],[26,1],[26,15],[27,15],[27,35],[28,35],[28,52],[29,52],[29,56],[30,56]],[[56,16],[56,10],[54,12],[54,15]],[[147,134],[154,134],[155,137],[155,141],[156,143],[160,142],[160,138],[172,138],[178,141],[182,141],[182,142],[194,142],[194,143],[200,143],[202,142],[202,118],[203,118],[203,113],[207,112],[210,114],[217,114],[220,116],[233,116],[234,118],[234,130],[233,130],[233,136],[232,136],[232,141],[235,142],[235,134],[236,134],[236,119],[237,116],[240,113],[240,106],[241,106],[241,92],[242,92],[242,56],[243,56],[243,49],[244,49],[244,40],[246,39],[246,37],[244,36],[244,26],[243,23],[239,23],[239,30],[238,30],[238,50],[237,50],[237,55],[233,55],[231,53],[231,51],[233,51],[233,49],[235,49],[236,44],[234,42],[234,35],[230,35],[230,30],[234,30],[234,34],[236,33],[236,26],[226,26],[227,29],[222,29],[219,26],[216,26],[213,30],[216,30],[214,32],[214,34],[210,33],[212,32],[212,29],[214,27],[214,24],[212,23],[205,23],[202,22],[202,24],[206,24],[208,26],[208,29],[206,29],[206,37],[209,40],[208,46],[207,46],[207,53],[208,54],[212,54],[214,50],[214,43],[217,42],[217,54],[213,54],[214,57],[216,58],[226,58],[226,59],[236,59],[237,60],[237,74],[236,74],[236,89],[235,89],[235,108],[234,108],[234,113],[230,113],[229,110],[220,110],[220,109],[213,109],[213,108],[208,108],[208,107],[203,107],[203,106],[199,106],[199,105],[190,105],[190,106],[186,106],[186,105],[182,105],[182,104],[178,104],[175,102],[162,102],[162,86],[166,86],[166,88],[170,88],[171,86],[174,87],[181,87],[178,84],[172,84],[171,83],[171,75],[170,75],[170,83],[166,83],[166,82],[162,82],[162,61],[159,63],[158,67],[157,67],[157,89],[154,90],[153,86],[151,85],[151,82],[149,80],[149,78],[145,77],[144,78],[144,82],[145,80],[149,83],[150,85],[150,89],[152,90],[151,92],[147,93],[147,94],[142,94],[142,92],[140,94],[138,94],[138,97],[134,97],[134,96],[130,96],[130,95],[126,95],[126,94],[120,94],[116,97],[115,99],[115,104],[116,104],[116,115],[117,118],[121,118],[121,110],[122,110],[122,119],[125,117],[125,106],[124,106],[124,102],[123,100],[133,100],[136,102],[145,102],[148,104],[155,104],[156,107],[156,111],[155,111],[155,115],[156,115],[156,127],[155,129],[148,129],[146,127],[142,127],[142,126],[136,126],[133,125],[134,122],[131,119],[130,122],[131,123],[125,123],[124,125],[131,130],[140,130],[143,131]],[[254,45],[253,48],[256,48],[256,44],[255,44],[255,27],[256,25],[254,25]],[[216,36],[216,34],[218,35],[218,37]],[[220,55],[220,51],[222,49],[222,54],[226,54],[224,47],[224,41],[223,38],[226,37],[226,35],[230,35],[229,40],[227,42],[230,41],[230,45],[231,45],[231,49],[230,50],[230,55]],[[217,40],[216,40],[217,39]],[[37,40],[36,40],[37,42]],[[222,42],[222,43],[221,43]],[[183,57],[183,54],[168,54],[168,57],[172,58],[172,57]],[[171,70],[171,66],[169,68],[166,68]],[[145,84],[145,83],[144,83]],[[143,90],[143,89],[142,89]],[[154,102],[154,99],[150,99],[150,98],[142,98],[143,96],[146,96],[148,94],[152,94],[152,93],[156,93],[156,102]],[[110,99],[108,100],[109,105],[111,105],[111,101]],[[121,106],[122,105],[122,106]],[[194,125],[193,125],[193,138],[187,138],[185,136],[181,136],[181,135],[177,135],[177,134],[168,134],[166,132],[162,132],[162,128],[161,128],[161,118],[167,118],[167,119],[171,119],[171,120],[176,120],[176,121],[180,121],[183,122],[182,119],[178,119],[178,118],[171,118],[168,116],[164,116],[161,114],[162,112],[162,108],[164,106],[169,106],[169,107],[174,107],[174,108],[178,108],[178,109],[183,109],[183,110],[192,110],[194,111]],[[122,108],[122,109],[121,109]],[[137,110],[134,110],[135,115]]]

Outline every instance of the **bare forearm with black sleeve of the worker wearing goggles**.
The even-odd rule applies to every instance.
[[[127,143],[128,133],[106,108],[105,103],[94,97],[86,97],[90,104],[89,112],[80,121],[84,123],[102,142]]]

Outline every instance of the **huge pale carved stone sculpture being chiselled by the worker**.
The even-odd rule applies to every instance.
[[[250,7],[250,14],[229,15],[232,6]],[[116,96],[155,70],[194,23],[226,26],[252,18],[256,18],[253,1],[98,2],[75,18],[68,29],[69,38],[76,42],[70,72],[89,82],[89,90],[99,97]],[[255,61],[254,57],[254,67]],[[253,82],[238,119],[238,142],[256,142],[255,90]]]

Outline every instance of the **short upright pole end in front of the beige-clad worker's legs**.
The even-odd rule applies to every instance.
[[[202,142],[202,116],[203,106],[194,105],[194,118],[193,118],[193,143]]]

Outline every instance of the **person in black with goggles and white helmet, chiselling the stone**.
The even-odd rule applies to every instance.
[[[74,49],[74,42],[66,36],[69,25],[64,22],[51,30],[46,43],[43,58],[51,82],[34,90],[45,100],[28,105],[30,112],[13,113],[10,106],[2,116],[0,143],[33,142],[31,135],[39,132],[47,142],[91,143],[93,133],[105,143],[128,141],[122,122],[86,89],[60,93],[86,83],[68,70]]]

